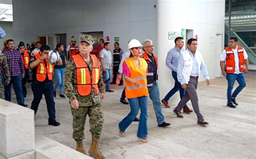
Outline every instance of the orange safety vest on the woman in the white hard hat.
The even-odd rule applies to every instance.
[[[149,92],[147,91],[147,62],[143,58],[139,57],[139,67],[130,57],[125,60],[125,63],[130,70],[130,78],[133,79],[133,81],[140,83],[140,86],[137,87],[133,83],[125,81],[126,98],[149,96]]]

